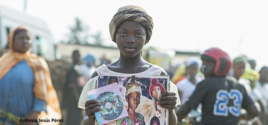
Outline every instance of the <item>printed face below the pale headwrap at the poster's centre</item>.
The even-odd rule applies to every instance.
[[[137,91],[131,92],[127,96],[128,108],[136,110],[140,104],[140,94]]]

